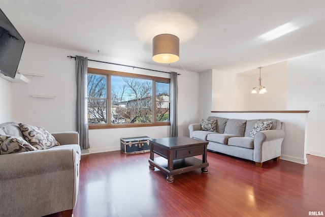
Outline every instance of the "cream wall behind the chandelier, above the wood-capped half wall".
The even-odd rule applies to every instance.
[[[286,71],[286,61],[264,67],[262,85],[268,92],[262,95],[251,94],[258,85],[258,69],[237,74],[212,70],[212,79],[206,81],[212,82],[212,111],[286,110]]]

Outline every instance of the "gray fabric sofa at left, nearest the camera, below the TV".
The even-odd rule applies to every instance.
[[[21,141],[24,135],[18,123],[0,124],[0,137],[10,135]],[[59,145],[48,149],[3,154],[6,147],[1,146],[0,216],[44,216],[56,212],[72,216],[79,187],[79,134],[51,135]]]

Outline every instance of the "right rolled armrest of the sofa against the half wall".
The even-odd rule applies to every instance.
[[[254,161],[265,162],[281,156],[283,130],[260,131],[254,137]]]

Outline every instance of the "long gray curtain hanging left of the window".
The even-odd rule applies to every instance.
[[[87,57],[76,55],[76,78],[77,78],[77,108],[76,127],[80,136],[80,148],[89,148],[88,118],[87,118]]]

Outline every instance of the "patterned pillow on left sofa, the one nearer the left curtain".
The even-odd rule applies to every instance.
[[[33,127],[19,123],[19,128],[25,137],[25,140],[39,150],[48,149],[60,145],[56,139],[43,127]]]

